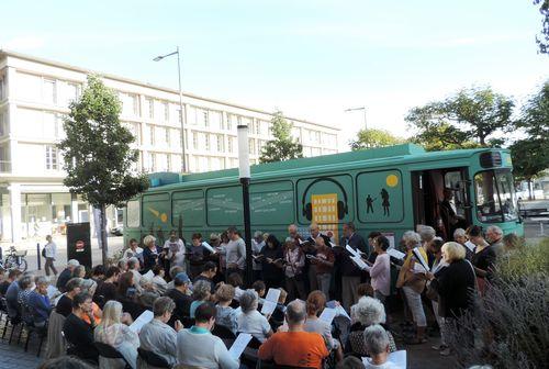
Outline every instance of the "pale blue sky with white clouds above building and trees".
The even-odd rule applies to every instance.
[[[549,77],[529,0],[5,1],[0,48],[338,126],[410,137],[411,108],[492,88],[520,104]]]

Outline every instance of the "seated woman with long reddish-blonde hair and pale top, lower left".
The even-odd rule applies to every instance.
[[[103,318],[96,327],[96,342],[110,345],[117,349],[130,362],[132,369],[137,368],[137,347],[139,337],[130,329],[132,317],[127,313],[122,313],[122,304],[117,301],[108,301],[103,309]],[[124,362],[120,359],[99,358],[101,369],[122,369]]]

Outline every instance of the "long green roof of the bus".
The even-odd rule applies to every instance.
[[[267,163],[250,167],[251,178],[276,177],[295,175],[307,171],[317,171],[332,168],[340,169],[341,166],[361,165],[391,165],[394,161],[429,161],[469,157],[473,154],[489,150],[490,148],[456,149],[445,152],[426,152],[423,147],[414,144],[402,144],[388,147],[371,148],[366,150],[348,152],[340,154],[323,155],[287,161]],[[200,174],[180,175],[175,172],[155,172],[149,175],[150,188],[161,187],[170,189],[177,185],[191,185],[208,182],[210,180],[223,181],[238,178],[238,168],[223,169]],[[170,186],[171,185],[171,186]],[[169,188],[166,188],[168,187]]]

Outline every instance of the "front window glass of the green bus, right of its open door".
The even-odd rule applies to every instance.
[[[485,223],[517,219],[517,203],[509,169],[485,170],[474,176],[477,216]]]

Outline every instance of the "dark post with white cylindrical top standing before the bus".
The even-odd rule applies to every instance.
[[[249,214],[249,147],[248,126],[239,124],[238,134],[238,178],[242,185],[242,199],[244,212],[244,242],[246,243],[246,284],[251,287],[254,270],[251,266],[251,224]]]

